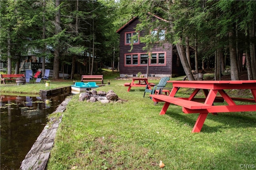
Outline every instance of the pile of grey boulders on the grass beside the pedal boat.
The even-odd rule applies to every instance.
[[[113,90],[109,90],[107,93],[103,91],[97,92],[96,90],[91,90],[84,93],[80,93],[79,101],[86,102],[101,102],[101,103],[109,103],[109,102],[122,102],[124,100],[118,98],[118,96],[114,93]]]

